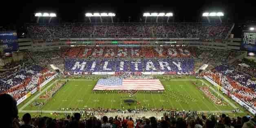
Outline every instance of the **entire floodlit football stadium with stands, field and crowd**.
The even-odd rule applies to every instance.
[[[0,27],[0,127],[254,128],[254,26],[234,38],[223,11],[174,14],[37,11],[24,33]]]

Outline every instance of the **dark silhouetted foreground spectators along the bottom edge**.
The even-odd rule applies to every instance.
[[[169,111],[157,117],[107,117],[81,116],[80,113],[65,118],[31,117],[25,113],[18,117],[16,101],[8,94],[0,94],[0,106],[7,115],[0,116],[2,128],[254,128],[256,117],[249,115],[230,118],[225,114],[206,114],[196,111]],[[57,114],[56,114],[57,115]]]

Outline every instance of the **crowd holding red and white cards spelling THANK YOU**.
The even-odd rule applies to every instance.
[[[75,46],[64,49],[61,53],[66,58],[199,58],[206,62],[227,63],[241,52],[202,50],[196,47],[83,47]]]

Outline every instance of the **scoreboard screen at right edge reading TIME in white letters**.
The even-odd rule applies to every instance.
[[[256,31],[243,31],[241,47],[245,51],[256,51]]]

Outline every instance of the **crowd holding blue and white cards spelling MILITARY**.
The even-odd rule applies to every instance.
[[[194,72],[193,59],[97,59],[65,60],[65,71],[75,72],[172,72],[188,74]]]

